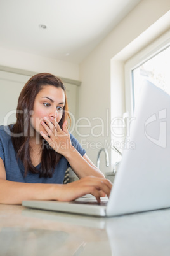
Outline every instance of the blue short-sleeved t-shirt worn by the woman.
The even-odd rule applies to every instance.
[[[24,166],[20,159],[16,158],[16,151],[13,147],[10,136],[10,128],[8,126],[0,126],[0,157],[3,159],[4,167],[6,170],[6,180],[26,183],[53,183],[62,184],[65,176],[65,171],[69,166],[69,163],[65,157],[61,157],[60,162],[55,167],[55,171],[51,178],[39,178],[39,174],[27,173],[24,177]],[[83,156],[86,151],[81,147],[80,143],[75,137],[70,134],[72,145]],[[40,164],[36,166],[40,169]]]

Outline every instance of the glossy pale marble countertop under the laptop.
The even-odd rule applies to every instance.
[[[170,209],[100,218],[0,205],[1,256],[170,255]]]

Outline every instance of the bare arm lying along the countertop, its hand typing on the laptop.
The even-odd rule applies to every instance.
[[[22,204],[23,200],[72,201],[86,194],[92,194],[100,201],[101,191],[109,196],[111,188],[110,181],[92,176],[66,185],[8,181],[6,180],[4,162],[0,158],[1,204]]]

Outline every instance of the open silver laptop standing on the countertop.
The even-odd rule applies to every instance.
[[[110,198],[23,201],[50,211],[111,217],[170,207],[170,96],[145,81]],[[130,146],[129,146],[130,145]]]

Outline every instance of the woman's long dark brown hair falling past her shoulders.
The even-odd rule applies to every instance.
[[[30,117],[34,107],[34,100],[37,94],[48,85],[52,85],[57,88],[62,88],[65,93],[65,86],[60,78],[49,73],[39,73],[32,76],[29,81],[23,87],[20,96],[18,98],[18,106],[16,109],[16,123],[10,125],[10,130],[13,134],[11,136],[13,146],[17,153],[18,159],[22,160],[25,167],[25,176],[28,171],[32,173],[39,173],[39,177],[51,178],[56,164],[58,164],[62,155],[55,152],[48,143],[42,138],[42,155],[41,155],[41,167],[38,170],[33,166],[30,158],[30,150],[32,148],[29,145],[30,140]],[[63,115],[59,122],[62,129],[63,122],[69,117],[67,97],[65,94],[65,106],[63,108]],[[70,119],[70,117],[69,117]],[[44,142],[44,143],[43,143]]]

